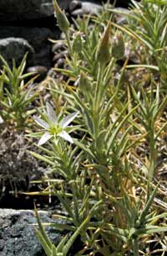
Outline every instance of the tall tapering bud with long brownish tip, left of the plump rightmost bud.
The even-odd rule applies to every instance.
[[[101,65],[105,65],[110,60],[110,30],[111,30],[111,23],[109,21],[107,29],[104,32],[104,36],[100,39],[99,47],[97,50],[96,58]]]

